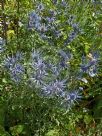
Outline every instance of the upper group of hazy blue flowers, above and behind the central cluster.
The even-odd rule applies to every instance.
[[[67,24],[73,28],[68,34],[68,37],[64,41],[64,45],[70,44],[79,34],[80,29],[78,23],[74,23],[73,19],[69,18],[69,23],[66,21],[59,21],[58,16],[64,15],[63,11],[59,9],[59,6],[65,6],[65,1],[53,1],[57,4],[57,9],[48,10],[46,6],[40,4],[35,11],[29,14],[28,28],[35,29],[43,40],[47,40],[49,44],[54,44],[54,41],[64,37],[63,25]],[[44,12],[47,11],[45,15]]]

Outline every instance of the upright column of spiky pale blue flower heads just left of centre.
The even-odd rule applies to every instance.
[[[47,73],[46,73],[46,65],[39,51],[34,50],[31,53],[29,68],[30,68],[29,70],[30,72],[28,74],[31,83],[34,84],[35,86],[42,86]]]

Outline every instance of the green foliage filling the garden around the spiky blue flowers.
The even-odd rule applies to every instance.
[[[58,1],[61,3],[61,0]],[[51,32],[46,32],[49,40],[44,40],[39,31],[34,28],[28,30],[28,15],[39,3],[45,6],[45,11],[40,12],[42,17],[48,16],[50,10],[55,10],[58,14],[54,26],[61,31],[60,38],[50,36],[50,30]],[[50,0],[5,0],[1,13],[3,18],[0,18],[0,23],[6,23],[7,40],[3,52],[0,47],[0,136],[102,135],[102,3],[98,3],[101,3],[101,0],[69,0],[68,8],[65,8],[60,4],[53,4]],[[70,16],[73,16],[73,23],[79,25],[81,32],[70,44],[64,45],[73,31],[73,27],[67,23]],[[71,52],[72,58],[67,61],[68,71],[63,70],[61,77],[58,77],[68,77],[69,90],[66,92],[78,87],[83,88],[82,100],[71,110],[60,107],[58,103],[61,103],[61,100],[58,98],[39,96],[36,92],[40,90],[35,86],[29,87],[26,82],[29,75],[24,75],[19,85],[11,80],[8,70],[3,67],[3,60],[16,54],[18,50],[23,52],[27,73],[31,70],[29,60],[32,49],[41,50],[44,59],[53,63],[60,59],[57,56],[58,50]],[[98,52],[99,55],[98,73],[95,77],[84,73],[82,79],[87,82],[79,80],[82,56],[86,57],[86,62],[90,61],[94,58],[92,52]]]

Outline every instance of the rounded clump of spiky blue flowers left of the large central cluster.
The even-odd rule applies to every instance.
[[[25,68],[21,63],[22,59],[22,54],[17,52],[15,55],[6,57],[3,62],[3,65],[8,70],[11,79],[16,83],[21,82],[25,72]]]

